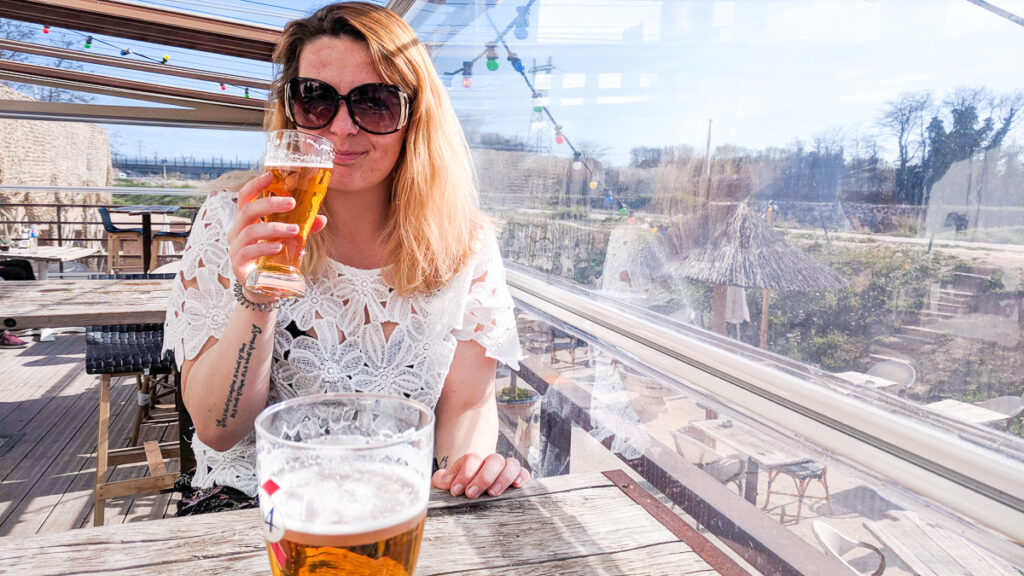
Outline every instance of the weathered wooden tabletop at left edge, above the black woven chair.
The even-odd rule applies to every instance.
[[[172,280],[0,282],[3,328],[159,324]]]

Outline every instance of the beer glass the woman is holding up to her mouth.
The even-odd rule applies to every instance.
[[[295,208],[270,214],[264,221],[298,224],[299,235],[282,239],[284,249],[281,252],[259,258],[246,278],[246,287],[273,296],[301,296],[306,289],[300,272],[302,254],[331,179],[334,148],[319,136],[297,130],[276,130],[267,135],[263,165],[273,176],[264,196],[295,199]]]

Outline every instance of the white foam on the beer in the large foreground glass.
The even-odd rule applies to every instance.
[[[430,495],[429,482],[421,476],[383,462],[340,470],[309,466],[273,480],[281,486],[273,505],[285,529],[309,535],[401,532],[419,522]]]

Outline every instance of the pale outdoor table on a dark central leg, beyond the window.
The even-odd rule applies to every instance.
[[[761,467],[771,470],[779,466],[810,460],[806,455],[794,452],[788,446],[771,440],[741,422],[717,418],[714,420],[694,420],[690,422],[690,425],[716,442],[724,442],[746,456],[743,497],[755,505],[758,499],[758,472]]]

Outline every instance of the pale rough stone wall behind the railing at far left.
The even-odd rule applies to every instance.
[[[32,98],[0,84],[0,99]],[[106,131],[84,122],[0,120],[0,184],[105,187],[112,181]],[[110,194],[0,191],[0,203],[105,204]],[[62,221],[98,221],[93,209],[63,208]],[[12,235],[10,222],[56,220],[52,207],[0,207],[0,234]],[[63,227],[65,238],[98,238],[96,225]],[[55,227],[40,225],[41,238],[55,238]]]

